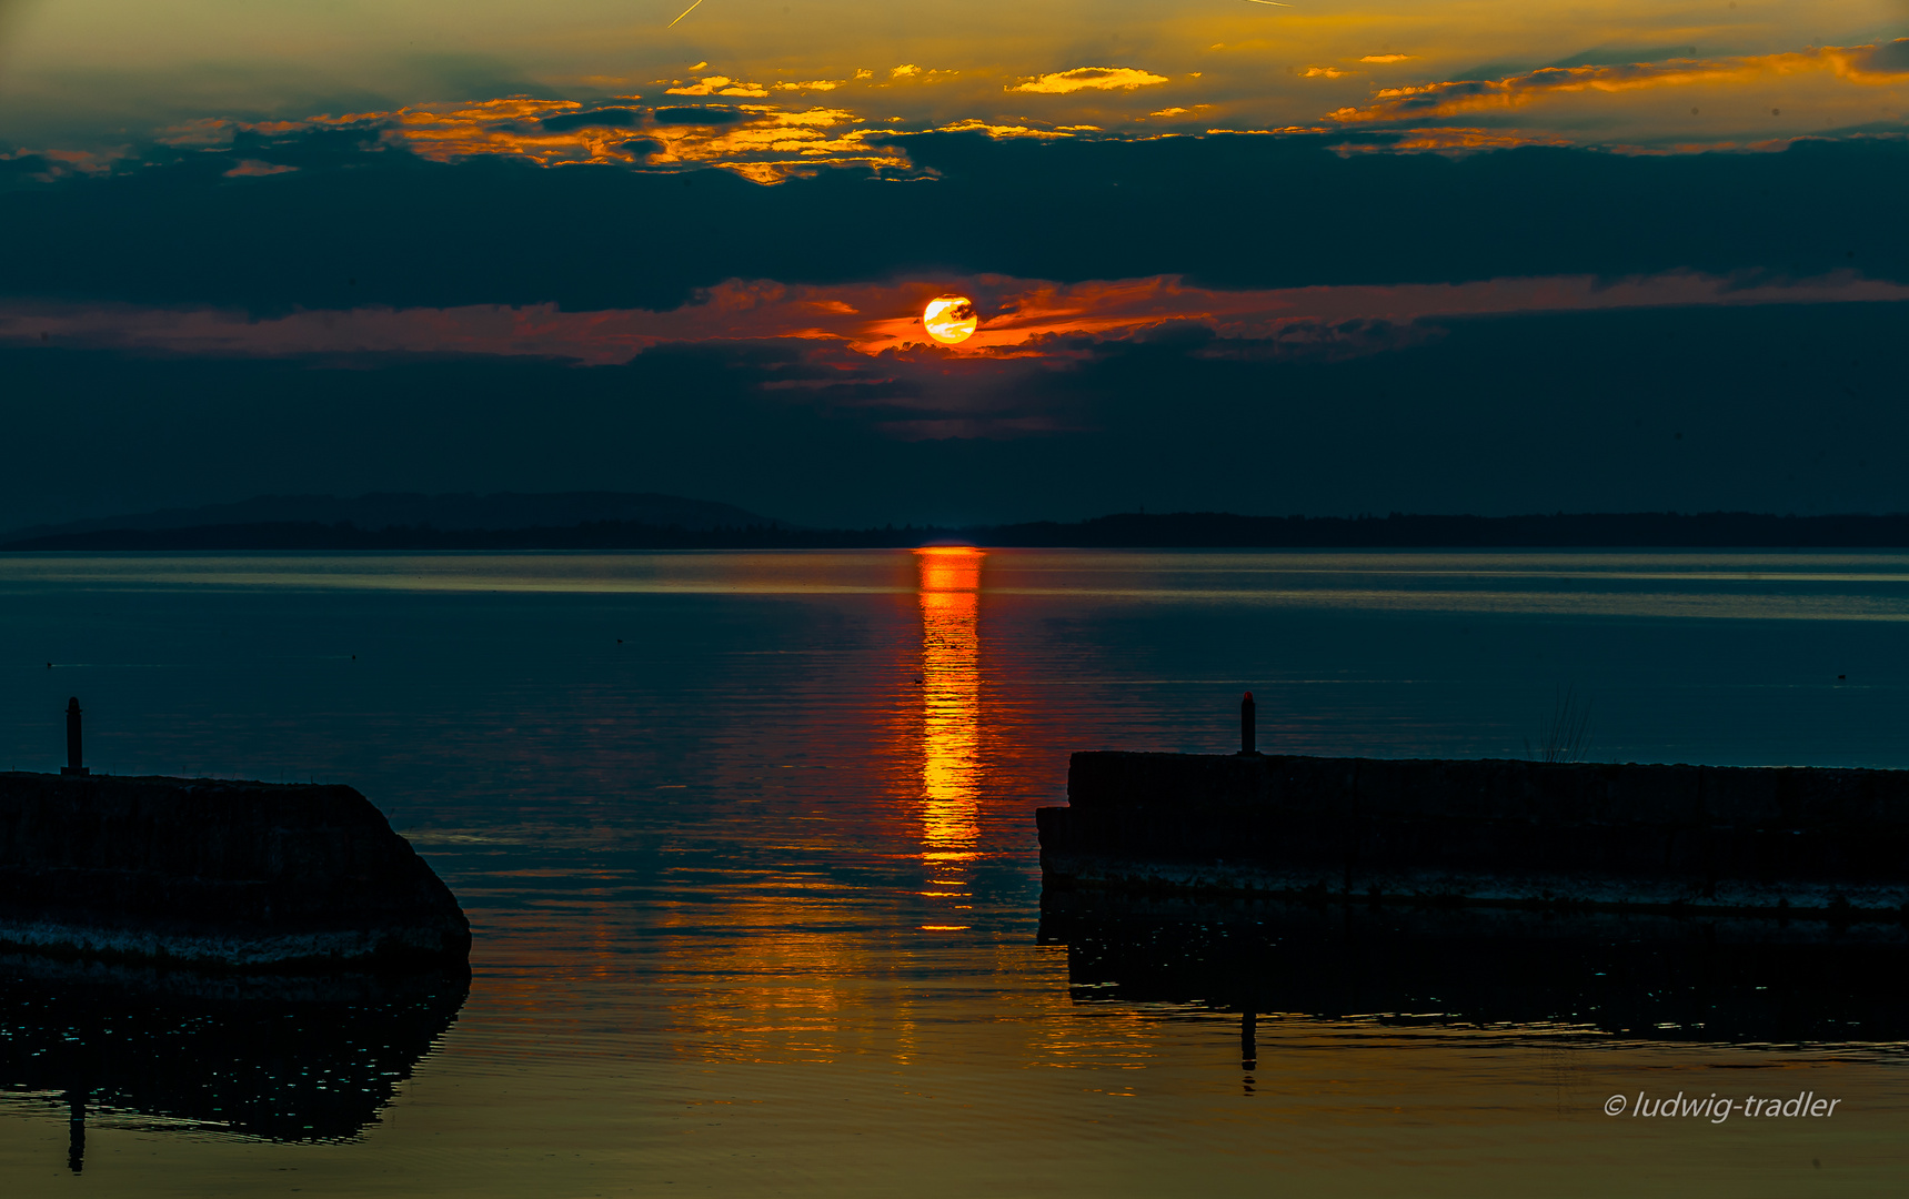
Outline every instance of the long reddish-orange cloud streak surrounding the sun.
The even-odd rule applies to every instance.
[[[981,313],[981,328],[958,347],[930,344],[918,321],[922,305],[947,290],[974,296]],[[974,275],[836,286],[727,281],[662,311],[473,304],[296,311],[260,321],[216,307],[10,302],[0,305],[0,342],[204,357],[422,353],[611,365],[664,344],[790,340],[859,357],[1006,361],[1067,357],[1082,338],[1122,340],[1184,325],[1233,342],[1277,342],[1294,326],[1348,321],[1411,325],[1531,311],[1903,300],[1909,286],[1854,271],[1764,283],[1672,271],[1615,283],[1565,275],[1268,290],[1197,288],[1170,275],[1077,284]]]

